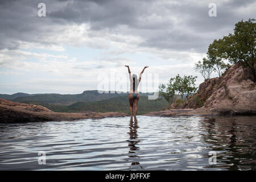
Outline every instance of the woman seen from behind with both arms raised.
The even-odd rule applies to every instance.
[[[129,65],[125,65],[128,68],[129,78],[130,78],[130,91],[128,95],[129,103],[130,103],[130,113],[131,113],[131,121],[133,121],[133,107],[134,107],[134,121],[137,121],[136,115],[138,111],[138,102],[139,102],[139,93],[138,93],[138,85],[141,82],[141,76],[144,72],[144,69],[148,68],[147,66],[143,68],[141,74],[139,75],[139,79],[137,79],[137,75],[131,76],[131,71]]]

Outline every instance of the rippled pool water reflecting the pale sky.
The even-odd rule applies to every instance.
[[[1,123],[0,169],[255,170],[255,121],[138,116],[137,123],[129,117]],[[39,151],[46,164],[38,164]],[[209,163],[210,151],[216,164]]]

